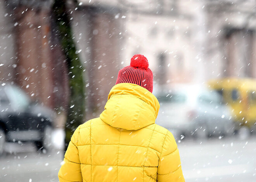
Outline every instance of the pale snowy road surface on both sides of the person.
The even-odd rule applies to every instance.
[[[256,182],[256,136],[178,142],[186,182]],[[1,182],[58,182],[62,151],[37,153],[32,143],[10,144],[0,158]]]

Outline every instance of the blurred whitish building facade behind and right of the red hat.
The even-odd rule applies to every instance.
[[[156,83],[164,86],[255,78],[254,0],[149,2],[161,5],[126,5],[123,60],[145,54]]]

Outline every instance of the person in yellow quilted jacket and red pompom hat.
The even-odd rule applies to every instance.
[[[170,131],[155,124],[159,102],[145,56],[119,70],[100,117],[81,124],[59,170],[60,182],[183,182]]]

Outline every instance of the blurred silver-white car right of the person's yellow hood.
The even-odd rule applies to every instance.
[[[176,85],[157,98],[160,110],[156,123],[172,131],[176,139],[234,133],[231,111],[222,104],[218,92],[197,85]]]

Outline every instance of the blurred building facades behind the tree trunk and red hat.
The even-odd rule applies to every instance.
[[[55,109],[68,103],[68,71],[52,0],[0,1],[0,84],[14,82]],[[256,78],[254,0],[67,1],[84,67],[88,118],[104,109],[118,70],[144,54],[156,87]]]

